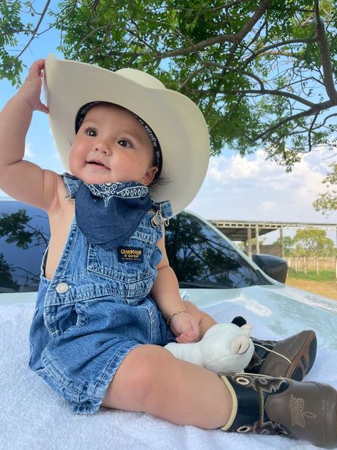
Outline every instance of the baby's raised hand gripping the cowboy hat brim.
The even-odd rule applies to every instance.
[[[42,73],[44,69],[44,59],[38,59],[31,65],[28,76],[21,86],[18,95],[22,96],[32,111],[42,111],[48,114],[48,108],[41,103]]]

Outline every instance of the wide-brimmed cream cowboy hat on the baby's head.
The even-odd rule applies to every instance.
[[[68,172],[78,111],[86,103],[107,101],[133,111],[159,140],[167,183],[155,183],[150,191],[153,200],[170,200],[176,215],[195,198],[209,162],[209,134],[204,116],[190,98],[136,69],[112,72],[53,55],[46,58],[44,81],[51,132]]]

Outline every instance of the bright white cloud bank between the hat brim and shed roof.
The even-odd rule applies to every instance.
[[[291,173],[266,160],[264,150],[246,158],[228,153],[212,157],[204,184],[189,208],[212,219],[336,223],[337,213],[326,219],[312,206],[326,189],[321,181],[328,165],[337,160],[328,156],[327,151],[303,155]]]

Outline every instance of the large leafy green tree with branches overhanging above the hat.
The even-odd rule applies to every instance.
[[[13,83],[29,42],[57,27],[67,58],[140,68],[190,96],[214,155],[224,145],[240,155],[263,147],[291,170],[337,131],[336,0],[48,0],[41,11],[35,4],[0,0],[0,76]],[[23,35],[27,44],[14,54]]]

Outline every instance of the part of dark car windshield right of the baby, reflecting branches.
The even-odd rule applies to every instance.
[[[234,289],[269,284],[236,247],[194,215],[184,212],[170,220],[165,245],[180,287]]]

